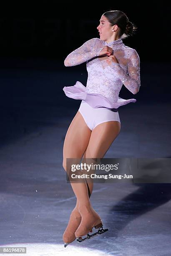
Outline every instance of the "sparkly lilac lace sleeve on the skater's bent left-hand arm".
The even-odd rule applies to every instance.
[[[72,51],[64,60],[65,67],[76,66],[98,56],[103,48],[92,50],[95,42],[96,38],[92,38],[86,41],[78,49]]]

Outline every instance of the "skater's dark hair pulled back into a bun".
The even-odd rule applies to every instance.
[[[119,37],[121,38],[127,38],[128,36],[132,36],[137,27],[128,20],[128,17],[125,13],[119,11],[119,10],[110,10],[106,13],[103,13],[103,15],[108,19],[108,21],[111,23],[111,26],[118,25],[120,28]]]

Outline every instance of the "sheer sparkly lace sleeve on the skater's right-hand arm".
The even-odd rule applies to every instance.
[[[136,94],[141,86],[140,81],[140,58],[134,49],[128,61],[128,74],[123,70],[119,63],[112,62],[112,69],[115,69],[118,77],[121,79],[125,87]]]

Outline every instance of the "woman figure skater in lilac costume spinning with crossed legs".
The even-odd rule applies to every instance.
[[[63,147],[63,167],[67,172],[66,159],[103,158],[121,130],[118,108],[135,99],[118,97],[122,85],[133,94],[140,88],[140,59],[135,49],[123,44],[121,38],[133,34],[136,27],[119,10],[108,11],[101,16],[97,27],[99,38],[86,41],[65,59],[66,67],[85,61],[88,80],[86,87],[76,82],[64,87],[68,97],[82,100],[80,108],[66,133]],[[67,172],[68,173],[68,172]],[[67,228],[63,234],[64,246],[77,238],[102,227],[100,216],[89,200],[93,182],[71,183],[77,198]]]

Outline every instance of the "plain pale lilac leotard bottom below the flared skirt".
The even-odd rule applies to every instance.
[[[92,108],[84,100],[81,101],[78,111],[83,116],[85,123],[91,131],[100,123],[108,121],[118,121],[121,123],[118,112],[113,112],[105,108]]]

